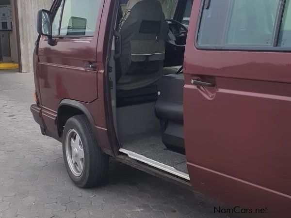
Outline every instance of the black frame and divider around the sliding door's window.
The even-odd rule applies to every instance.
[[[281,25],[282,25],[282,20],[283,20],[283,15],[284,15],[287,0],[280,0],[280,2],[279,2],[277,13],[276,13],[276,18],[275,18],[275,25],[274,25],[271,46],[233,46],[233,45],[229,45],[229,46],[210,45],[210,46],[207,46],[207,45],[199,45],[198,44],[198,36],[199,36],[199,30],[200,30],[200,26],[201,26],[201,22],[202,22],[202,15],[204,12],[205,4],[208,1],[209,0],[201,0],[200,12],[199,12],[199,16],[198,16],[198,23],[197,23],[197,27],[196,27],[195,41],[194,41],[194,45],[197,49],[200,49],[200,50],[231,50],[231,51],[286,51],[286,52],[291,51],[291,47],[278,47],[280,29],[281,29]]]

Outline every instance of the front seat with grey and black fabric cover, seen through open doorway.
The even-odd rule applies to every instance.
[[[122,54],[116,71],[117,104],[156,96],[168,30],[159,0],[129,0],[119,24]]]

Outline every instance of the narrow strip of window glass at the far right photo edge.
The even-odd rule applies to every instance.
[[[286,1],[285,11],[282,19],[282,26],[279,34],[278,46],[291,47],[291,3]]]

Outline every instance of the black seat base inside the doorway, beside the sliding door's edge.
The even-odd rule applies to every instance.
[[[158,84],[158,100],[155,106],[156,116],[162,125],[162,142],[179,153],[185,153],[183,126],[183,74],[163,76]]]

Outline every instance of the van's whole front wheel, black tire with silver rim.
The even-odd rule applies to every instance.
[[[85,115],[71,117],[66,122],[63,131],[63,154],[65,167],[77,187],[96,187],[106,179],[109,156],[98,146]]]

